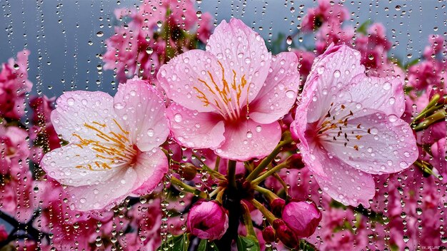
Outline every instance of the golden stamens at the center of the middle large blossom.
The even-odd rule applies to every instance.
[[[211,93],[211,97],[207,97],[203,91],[194,86],[194,89],[199,93],[199,98],[204,106],[213,106],[225,120],[236,121],[241,116],[241,97],[245,91],[247,93],[247,113],[248,113],[248,90],[250,85],[247,85],[245,75],[241,76],[241,80],[236,83],[236,71],[233,71],[233,80],[231,84],[225,79],[225,69],[220,61],[217,61],[222,70],[222,87],[214,81],[214,77],[210,71],[208,72],[211,83],[207,83],[201,78],[198,78],[203,83],[208,91]]]

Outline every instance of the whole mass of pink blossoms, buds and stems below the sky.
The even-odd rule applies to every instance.
[[[273,55],[239,19],[143,1],[106,40],[119,87],[26,100],[0,72],[0,244],[16,250],[442,247],[446,55],[388,52],[382,24],[318,1],[315,50]],[[196,43],[206,43],[204,50]],[[25,106],[31,108],[26,118]]]

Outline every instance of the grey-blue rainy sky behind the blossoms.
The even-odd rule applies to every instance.
[[[362,24],[368,19],[383,23],[388,38],[396,44],[392,52],[398,58],[404,58],[404,62],[420,56],[429,34],[446,35],[447,32],[446,1],[343,2],[352,14],[352,21],[346,25]],[[124,0],[120,4],[116,0],[0,0],[0,62],[15,56],[23,48],[29,49],[29,79],[34,83],[33,93],[50,97],[59,96],[63,91],[86,89],[114,93],[113,73],[98,73],[96,67],[103,63],[96,55],[104,53],[104,40],[114,34],[113,26],[119,25],[114,19],[114,9],[138,3]],[[216,24],[222,19],[236,17],[254,27],[264,38],[271,33],[275,39],[278,33],[293,34],[296,26],[301,24],[298,16],[316,6],[316,2],[203,0],[196,6],[202,12],[209,11]],[[96,36],[99,31],[103,31],[104,36]],[[297,40],[294,44],[303,46]],[[406,57],[410,53],[413,58]]]

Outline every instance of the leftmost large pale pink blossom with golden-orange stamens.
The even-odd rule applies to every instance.
[[[137,78],[112,98],[73,91],[58,98],[51,121],[69,145],[47,153],[41,167],[59,183],[77,210],[102,210],[127,195],[151,193],[168,170],[158,148],[169,133],[164,102]]]

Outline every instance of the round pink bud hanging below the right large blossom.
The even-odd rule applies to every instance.
[[[315,203],[292,201],[283,208],[282,219],[298,237],[309,237],[321,221],[321,212]]]

